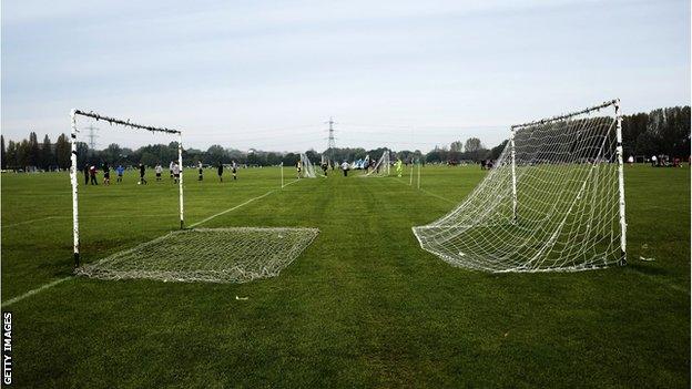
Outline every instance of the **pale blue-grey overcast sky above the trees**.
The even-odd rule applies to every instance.
[[[13,140],[79,108],[197,149],[322,151],[329,116],[339,146],[493,146],[613,98],[690,104],[690,1],[2,1]]]

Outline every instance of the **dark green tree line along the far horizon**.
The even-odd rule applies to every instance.
[[[690,106],[673,106],[653,110],[649,113],[624,115],[622,120],[622,135],[624,156],[645,156],[665,154],[671,157],[686,158],[690,155]],[[497,160],[507,145],[507,140],[499,145],[487,149],[477,137],[464,142],[455,141],[449,146],[435,146],[430,152],[419,150],[393,151],[393,157],[401,158],[405,163],[420,161],[424,163],[458,163],[462,161],[478,162],[480,160]],[[7,170],[64,170],[70,167],[70,140],[60,134],[55,142],[49,135],[39,142],[35,132],[28,139],[9,141],[6,145],[4,136],[0,135],[0,162]],[[312,161],[325,158],[334,163],[365,158],[379,158],[386,149],[365,150],[363,147],[336,147],[323,153],[314,150],[306,152]],[[143,163],[153,166],[157,163],[167,165],[177,161],[177,143],[152,144],[136,150],[122,147],[115,143],[103,150],[90,150],[83,142],[77,144],[78,164],[109,163],[110,165],[136,165]],[[247,165],[294,165],[301,155],[298,153],[281,153],[251,150],[242,152],[215,144],[206,151],[197,149],[183,150],[183,161],[193,165],[201,161],[206,165],[230,164],[236,162]]]

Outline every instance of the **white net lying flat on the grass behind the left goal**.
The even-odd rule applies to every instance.
[[[246,283],[274,277],[309,246],[317,228],[176,231],[77,269],[101,279]]]

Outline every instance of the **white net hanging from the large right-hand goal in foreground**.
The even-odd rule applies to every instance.
[[[511,129],[485,180],[455,209],[414,227],[451,265],[488,272],[624,264],[619,101]]]

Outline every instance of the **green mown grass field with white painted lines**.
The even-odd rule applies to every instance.
[[[690,387],[688,166],[627,166],[628,266],[502,275],[451,267],[411,234],[482,180],[475,166],[426,166],[421,191],[407,175],[282,190],[277,168],[186,173],[187,224],[266,194],[203,226],[320,234],[276,278],[71,277],[8,306],[71,275],[71,197],[64,173],[3,174],[18,387]],[[80,187],[84,262],[176,227],[176,187],[134,182]]]

